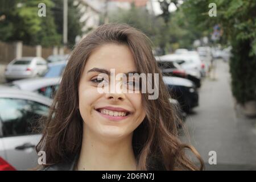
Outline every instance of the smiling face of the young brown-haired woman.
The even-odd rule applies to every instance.
[[[79,110],[86,131],[108,139],[121,139],[132,134],[146,114],[141,93],[124,93],[121,89],[98,92],[99,84],[104,83],[109,88],[111,84],[121,84],[115,75],[115,82],[110,75],[102,76],[110,69],[114,69],[115,75],[137,72],[128,46],[105,44],[90,54],[79,84]],[[127,82],[133,85],[133,79],[127,77]]]

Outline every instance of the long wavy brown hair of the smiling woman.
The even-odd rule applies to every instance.
[[[139,73],[159,73],[159,97],[148,100],[148,94],[142,94],[146,117],[133,133],[133,149],[138,169],[203,169],[203,160],[195,148],[181,143],[178,138],[176,110],[168,100],[170,94],[152,54],[150,40],[136,28],[115,23],[98,27],[73,50],[49,116],[44,122],[43,137],[36,146],[36,151],[46,152],[46,166],[61,163],[80,152],[83,121],[78,109],[77,88],[90,53],[107,43],[129,46]],[[185,148],[196,155],[201,163],[200,168],[188,159]]]

